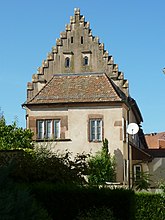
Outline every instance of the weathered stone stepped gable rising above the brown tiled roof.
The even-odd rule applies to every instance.
[[[27,84],[27,100],[34,97],[54,74],[85,72],[105,72],[128,95],[128,81],[104,49],[104,44],[92,35],[90,24],[80,15],[80,9],[76,8],[65,31],[56,39],[56,45],[33,74],[32,82]]]

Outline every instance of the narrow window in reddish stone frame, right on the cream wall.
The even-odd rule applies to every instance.
[[[90,141],[102,141],[102,119],[90,120]]]

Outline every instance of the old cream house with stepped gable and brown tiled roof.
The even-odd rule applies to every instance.
[[[128,81],[79,9],[32,76],[23,107],[34,140],[52,141],[54,150],[94,154],[107,138],[122,184],[148,169],[143,119]],[[133,137],[126,133],[130,122],[140,127]]]

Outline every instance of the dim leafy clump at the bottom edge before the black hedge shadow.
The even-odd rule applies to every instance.
[[[75,220],[115,220],[116,218],[113,216],[113,212],[110,208],[101,207],[95,208],[80,213]]]

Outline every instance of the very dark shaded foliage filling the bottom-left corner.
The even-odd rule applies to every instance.
[[[0,219],[50,220],[47,211],[41,208],[29,190],[9,178],[11,166],[13,164],[0,168]]]

